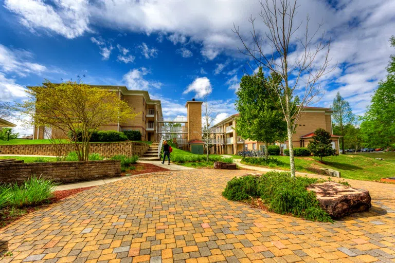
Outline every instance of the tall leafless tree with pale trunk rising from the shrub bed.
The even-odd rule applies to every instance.
[[[243,44],[243,49],[239,48],[241,53],[252,58],[258,66],[277,73],[282,79],[279,87],[274,84],[271,86],[280,99],[279,108],[287,124],[291,175],[295,176],[292,136],[304,107],[321,99],[323,91],[319,84],[320,78],[334,69],[328,69],[331,41],[325,40],[325,32],[317,37],[322,24],[312,34],[309,33],[309,16],[303,37],[295,35],[302,25],[295,25],[297,0],[266,0],[260,4],[262,11],[259,15],[268,32],[261,36],[253,17],[249,18],[252,40],[244,40],[235,25],[234,32]],[[271,52],[265,51],[266,43],[271,47]],[[295,47],[296,51],[292,52]]]

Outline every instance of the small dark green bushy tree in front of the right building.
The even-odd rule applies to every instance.
[[[312,141],[307,148],[314,156],[318,156],[322,162],[322,157],[336,155],[336,150],[332,148],[331,134],[327,130],[318,128],[314,132]]]

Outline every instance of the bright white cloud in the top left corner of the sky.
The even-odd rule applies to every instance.
[[[50,3],[49,3],[50,2]],[[88,0],[20,1],[6,0],[4,6],[14,12],[30,31],[44,29],[68,39],[89,29]]]

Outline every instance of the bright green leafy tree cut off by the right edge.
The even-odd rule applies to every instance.
[[[395,36],[390,39],[395,47]],[[395,56],[391,55],[387,78],[379,83],[361,123],[362,137],[369,146],[395,143]]]

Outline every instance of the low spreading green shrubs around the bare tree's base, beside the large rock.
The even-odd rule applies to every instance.
[[[222,195],[232,201],[260,197],[267,208],[275,213],[331,222],[331,217],[321,208],[315,193],[306,190],[308,185],[322,181],[309,177],[293,178],[286,172],[269,172],[259,177],[235,177],[227,183]]]

